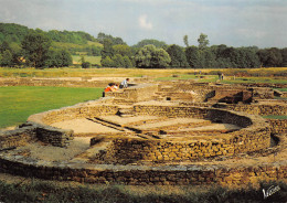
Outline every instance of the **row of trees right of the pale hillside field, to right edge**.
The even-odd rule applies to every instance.
[[[142,40],[134,46],[115,45],[103,41],[102,65],[107,67],[142,68],[253,68],[287,66],[287,49],[232,47],[225,44],[209,46],[208,35],[201,33],[198,45],[167,45],[162,41]]]

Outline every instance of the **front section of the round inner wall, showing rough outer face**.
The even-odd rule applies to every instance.
[[[192,136],[192,135],[191,135]],[[230,139],[190,139],[185,141],[157,139],[115,139],[102,161],[105,163],[130,163],[141,161],[198,161],[214,157],[232,157],[242,152],[257,151],[270,145],[267,132],[241,131]]]

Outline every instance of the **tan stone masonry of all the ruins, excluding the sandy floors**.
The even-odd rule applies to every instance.
[[[150,84],[127,88],[123,92],[109,93],[105,99],[30,116],[29,122],[20,126],[19,129],[1,132],[0,171],[41,179],[106,184],[248,185],[263,180],[287,181],[287,161],[284,159],[287,145],[286,121],[273,119],[266,121],[259,116],[246,114],[287,115],[286,103],[217,104],[222,105],[221,108],[211,108],[214,103],[203,103],[203,100],[213,98],[216,93],[219,97],[226,96],[220,93],[231,86],[192,83],[167,85]],[[245,95],[248,96],[247,88],[249,87],[236,87],[235,92],[228,94],[246,92]],[[161,93],[157,95],[158,92]],[[170,94],[176,92],[177,95]],[[257,99],[272,96],[268,89],[256,92],[253,89],[252,93],[253,96],[254,93],[257,94]],[[183,101],[177,101],[182,95],[184,95]],[[244,94],[242,96],[245,98]],[[138,103],[151,98],[171,100],[171,103],[158,105],[148,101]],[[123,106],[123,104],[130,106]],[[73,131],[53,128],[51,124],[76,118],[94,119],[105,115],[131,118],[145,115],[164,119],[195,118],[210,122],[232,124],[241,129],[196,133],[173,130],[169,135],[171,131],[169,128],[144,131],[126,126],[129,132],[91,135],[93,136],[91,148],[74,159],[63,162],[33,159],[12,149],[33,141],[42,141],[54,147],[67,147],[73,139]],[[120,125],[117,127],[125,128]],[[281,136],[280,147],[270,150],[272,132]],[[105,145],[99,147],[102,141]],[[237,163],[243,159],[241,156],[247,154],[253,154],[252,160],[256,159],[256,161]],[[273,160],[266,162],[261,159],[261,154],[270,156]],[[280,156],[277,158],[276,154]],[[232,161],[224,162],[228,159]],[[217,162],[213,162],[214,160]]]

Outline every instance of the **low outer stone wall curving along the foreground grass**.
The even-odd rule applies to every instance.
[[[86,167],[86,168],[85,168]],[[287,182],[285,162],[263,165],[91,165],[83,163],[47,165],[34,161],[30,164],[22,156],[0,154],[0,171],[23,177],[86,183],[121,183],[136,185],[249,185],[259,181]]]

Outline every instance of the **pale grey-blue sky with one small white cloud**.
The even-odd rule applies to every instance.
[[[0,0],[0,22],[198,45],[287,47],[287,0]]]

